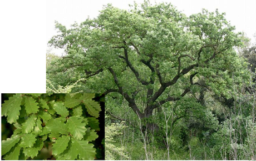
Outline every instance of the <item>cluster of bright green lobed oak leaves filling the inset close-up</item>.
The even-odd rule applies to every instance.
[[[79,102],[70,108],[70,99],[75,98]],[[2,104],[2,115],[15,127],[11,138],[2,140],[3,159],[37,158],[43,145],[52,150],[52,158],[96,159],[101,107],[94,98],[95,94],[13,94]],[[97,113],[87,111],[88,102]]]

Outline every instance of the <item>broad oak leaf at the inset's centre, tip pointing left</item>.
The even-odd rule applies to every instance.
[[[51,133],[68,134],[67,124],[61,121],[60,118],[51,119],[46,123],[47,130]]]

